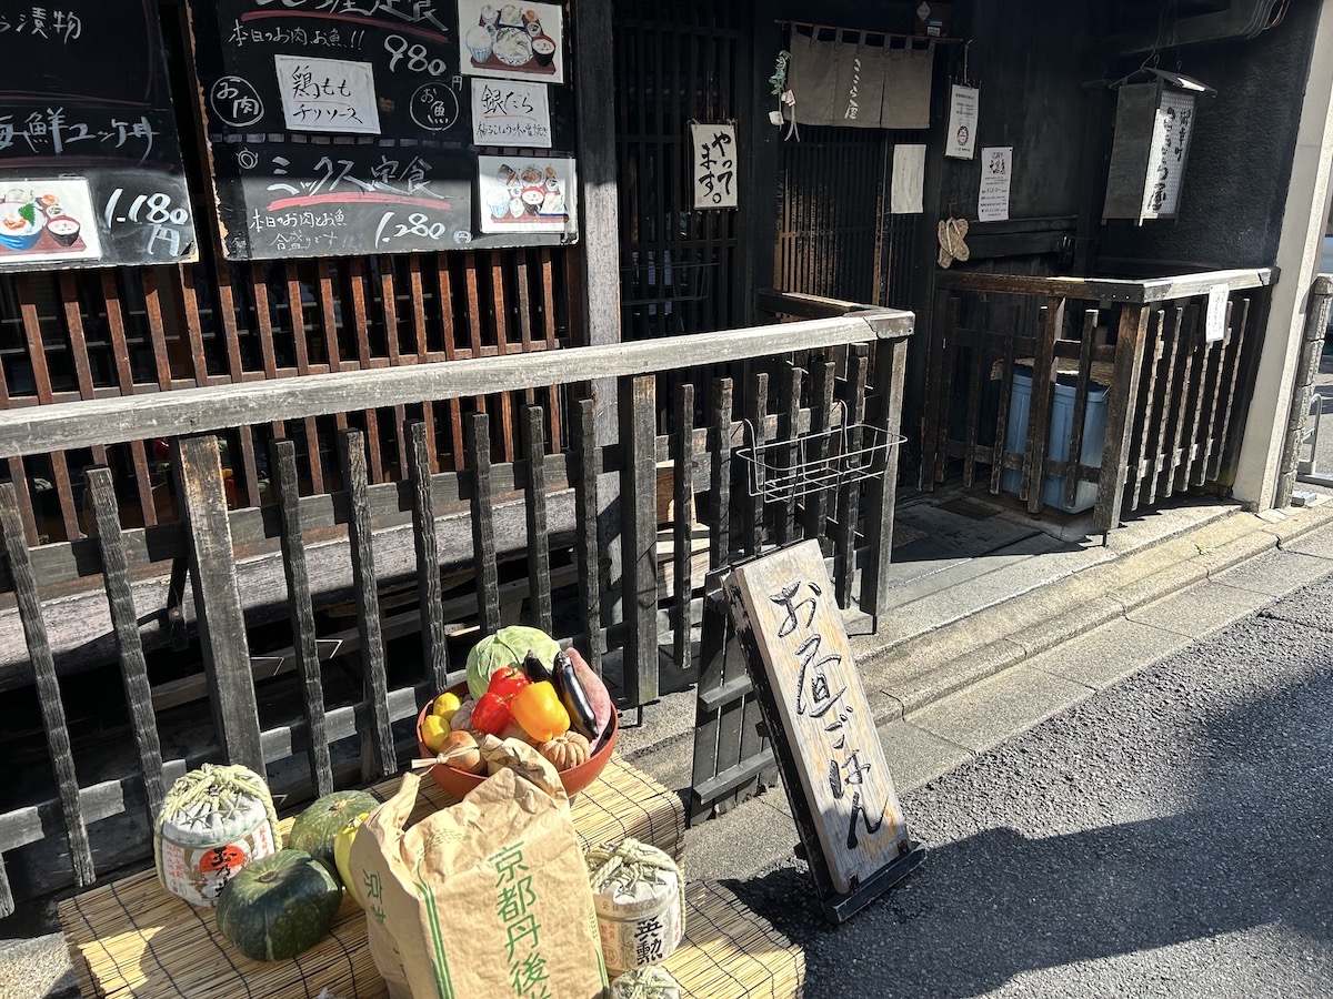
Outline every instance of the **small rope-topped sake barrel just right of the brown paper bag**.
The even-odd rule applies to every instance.
[[[670,956],[685,932],[685,879],[655,846],[625,839],[588,850],[597,928],[615,974]]]

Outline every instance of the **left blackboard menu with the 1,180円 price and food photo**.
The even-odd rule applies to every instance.
[[[155,0],[0,8],[0,270],[197,257]]]

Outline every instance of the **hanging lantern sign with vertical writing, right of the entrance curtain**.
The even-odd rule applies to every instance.
[[[1210,87],[1178,73],[1146,69],[1148,83],[1121,81],[1116,100],[1116,139],[1106,174],[1102,220],[1176,218],[1196,101]],[[1137,76],[1137,73],[1136,73]]]

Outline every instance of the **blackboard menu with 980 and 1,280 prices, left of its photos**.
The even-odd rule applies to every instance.
[[[472,241],[476,157],[444,0],[191,0],[232,260]]]

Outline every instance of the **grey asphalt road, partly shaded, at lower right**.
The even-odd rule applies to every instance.
[[[809,999],[1329,996],[1330,734],[1325,581],[905,797],[930,852],[844,926],[797,860],[732,887]]]

